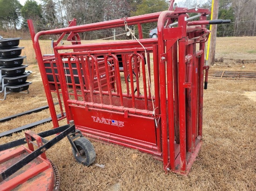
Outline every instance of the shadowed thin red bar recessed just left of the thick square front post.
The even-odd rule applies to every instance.
[[[178,44],[172,47],[173,50],[173,83],[174,83],[174,121],[175,121],[175,140],[180,143],[180,124],[179,124],[179,95],[178,95]]]

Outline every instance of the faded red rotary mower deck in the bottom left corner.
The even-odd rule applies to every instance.
[[[0,172],[14,165],[23,157],[32,153],[25,146],[8,149],[0,152]],[[43,153],[45,154],[45,153]],[[31,181],[28,181],[28,180]],[[54,189],[54,169],[48,159],[37,157],[19,171],[5,179],[0,184],[1,191],[17,189],[19,191],[37,190],[46,191]]]

